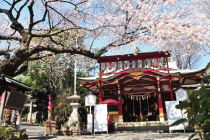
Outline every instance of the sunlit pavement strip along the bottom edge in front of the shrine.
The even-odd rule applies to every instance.
[[[192,133],[118,133],[118,134],[96,134],[83,136],[29,136],[29,139],[50,140],[188,140]]]

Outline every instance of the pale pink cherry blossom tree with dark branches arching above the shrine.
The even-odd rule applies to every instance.
[[[182,42],[182,38],[197,42],[198,50],[205,51],[209,19],[197,2],[0,0],[0,73],[14,77],[27,70],[28,61],[60,53],[84,56],[82,60],[88,62],[85,57],[97,59],[110,49],[135,48],[137,44],[168,50],[168,42]],[[75,38],[81,36],[85,45],[75,45]],[[100,40],[106,43],[98,44],[101,46],[94,52],[94,45]]]

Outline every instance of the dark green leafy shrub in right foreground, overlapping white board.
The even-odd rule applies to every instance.
[[[210,76],[203,80],[208,80]],[[201,139],[210,140],[210,90],[202,86],[196,93],[187,92],[188,100],[176,105],[177,109],[186,109],[187,119],[180,119],[170,126],[188,121],[188,127],[194,126],[195,133],[189,139],[199,134]]]

